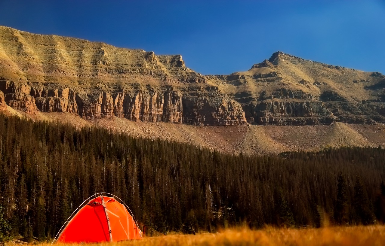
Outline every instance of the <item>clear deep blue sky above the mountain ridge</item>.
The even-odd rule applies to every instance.
[[[0,12],[0,25],[27,32],[181,54],[202,74],[245,71],[278,50],[385,73],[384,0],[0,0]]]

